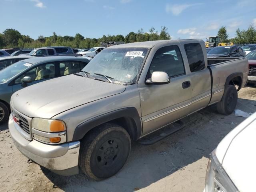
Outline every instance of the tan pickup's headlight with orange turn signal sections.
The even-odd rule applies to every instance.
[[[61,120],[33,118],[32,137],[43,143],[66,142],[66,124]]]

